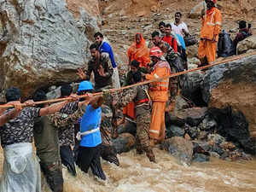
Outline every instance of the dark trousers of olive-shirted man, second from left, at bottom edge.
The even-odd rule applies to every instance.
[[[63,177],[62,177],[62,166],[61,160],[56,162],[43,162],[40,161],[41,170],[44,172],[49,188],[53,192],[63,191]]]

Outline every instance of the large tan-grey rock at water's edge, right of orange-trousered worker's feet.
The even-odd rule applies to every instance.
[[[181,165],[191,165],[193,157],[193,143],[185,140],[183,137],[172,137],[166,139],[161,144],[161,148],[175,156]]]

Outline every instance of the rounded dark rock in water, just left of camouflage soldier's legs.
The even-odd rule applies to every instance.
[[[128,152],[135,147],[135,137],[130,133],[122,133],[116,139],[113,139],[113,148],[117,154]]]

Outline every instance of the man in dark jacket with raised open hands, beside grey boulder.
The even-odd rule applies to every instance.
[[[106,60],[106,57],[101,55],[97,44],[90,45],[90,54],[91,59],[88,62],[88,67],[78,70],[80,78],[90,80],[90,75],[93,72],[96,92],[112,88],[113,67],[111,63]]]

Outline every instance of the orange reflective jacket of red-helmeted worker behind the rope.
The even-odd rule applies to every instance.
[[[151,74],[146,75],[146,79],[160,79],[171,74],[171,69],[167,61],[159,61],[154,65],[154,70]],[[168,86],[169,79],[160,80],[150,83],[149,96],[154,102],[168,101]]]

